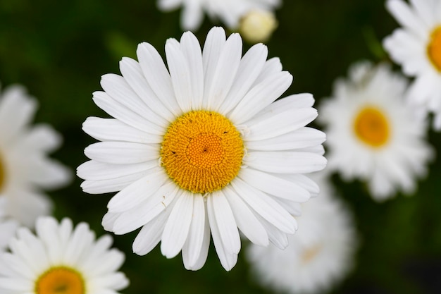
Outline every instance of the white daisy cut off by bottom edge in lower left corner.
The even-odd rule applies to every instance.
[[[128,286],[117,271],[124,254],[110,249],[112,238],[95,240],[87,223],[73,228],[70,219],[37,219],[37,235],[19,228],[11,252],[0,253],[2,294],[116,294]]]

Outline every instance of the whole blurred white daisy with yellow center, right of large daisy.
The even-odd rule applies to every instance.
[[[433,157],[426,122],[404,103],[406,89],[406,78],[386,64],[356,63],[320,107],[329,169],[366,180],[375,200],[412,192]]]

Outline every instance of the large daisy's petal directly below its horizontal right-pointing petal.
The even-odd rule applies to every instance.
[[[255,169],[242,169],[239,177],[254,188],[285,200],[306,202],[311,197],[302,186]]]

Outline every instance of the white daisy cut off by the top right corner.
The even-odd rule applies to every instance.
[[[441,129],[441,1],[387,1],[387,9],[402,28],[383,44],[406,75],[415,77],[409,101],[435,114],[434,127]]]

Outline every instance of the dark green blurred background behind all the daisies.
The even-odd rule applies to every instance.
[[[381,40],[398,25],[383,0],[285,0],[276,11],[279,27],[266,42],[294,82],[285,93],[311,92],[318,103],[333,81],[347,74],[354,61],[387,60]],[[54,125],[64,145],[54,154],[75,170],[86,161],[83,149],[94,142],[81,130],[87,116],[107,115],[92,102],[101,90],[100,76],[119,73],[123,56],[136,58],[139,42],[149,42],[162,56],[168,37],[182,34],[180,11],[161,13],[154,0],[0,0],[0,80],[2,87],[20,83],[39,100],[35,121]],[[213,25],[204,20],[201,42]],[[244,44],[244,50],[251,44]],[[395,66],[397,70],[399,68]],[[428,140],[441,148],[440,133]],[[440,293],[441,165],[430,165],[428,178],[415,195],[397,195],[378,204],[364,185],[333,176],[336,190],[353,210],[361,236],[356,267],[333,293]],[[58,219],[87,221],[104,234],[101,217],[111,195],[87,195],[76,178],[67,188],[50,192]],[[186,271],[180,255],[166,259],[156,248],[132,254],[137,232],[114,236],[126,254],[122,271],[130,278],[127,294],[271,293],[249,274],[243,248],[235,268],[226,272],[211,246],[203,269]]]

